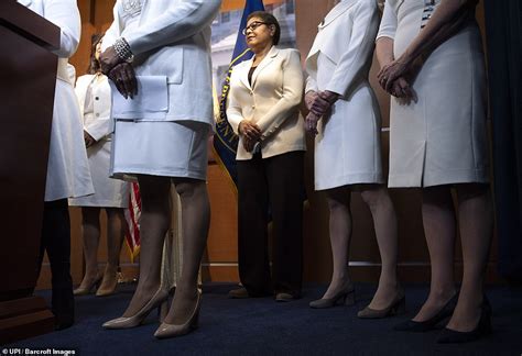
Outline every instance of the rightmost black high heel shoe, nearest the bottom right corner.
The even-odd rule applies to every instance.
[[[480,307],[480,319],[477,327],[470,332],[458,332],[445,327],[441,337],[437,340],[438,344],[463,344],[476,341],[483,336],[491,334],[491,304],[486,296],[483,296],[482,305]]]

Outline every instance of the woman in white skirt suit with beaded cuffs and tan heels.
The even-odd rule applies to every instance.
[[[115,4],[100,57],[104,74],[124,98],[116,91],[112,97],[111,174],[138,178],[142,244],[137,290],[123,315],[106,322],[106,329],[138,326],[152,309],[166,303],[160,269],[172,182],[182,201],[182,276],[154,336],[184,335],[197,327],[202,305],[197,276],[210,220],[205,181],[214,124],[210,24],[220,4],[219,0]]]

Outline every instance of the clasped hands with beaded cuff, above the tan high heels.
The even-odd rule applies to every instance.
[[[122,60],[112,46],[100,55],[101,71],[115,82],[118,91],[127,99],[138,93],[138,80],[134,68],[130,63]]]

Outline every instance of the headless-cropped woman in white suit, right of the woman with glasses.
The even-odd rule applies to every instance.
[[[330,211],[334,272],[328,290],[312,308],[354,303],[347,272],[351,237],[350,194],[361,191],[376,226],[382,269],[379,287],[359,318],[383,318],[404,305],[396,279],[396,216],[381,168],[380,112],[368,82],[379,26],[376,0],[342,0],[319,24],[306,58],[306,119],[315,140],[315,189],[326,192]],[[320,120],[319,120],[320,119]]]

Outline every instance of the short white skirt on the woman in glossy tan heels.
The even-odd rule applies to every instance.
[[[195,121],[117,120],[110,174],[206,180],[210,129]]]

